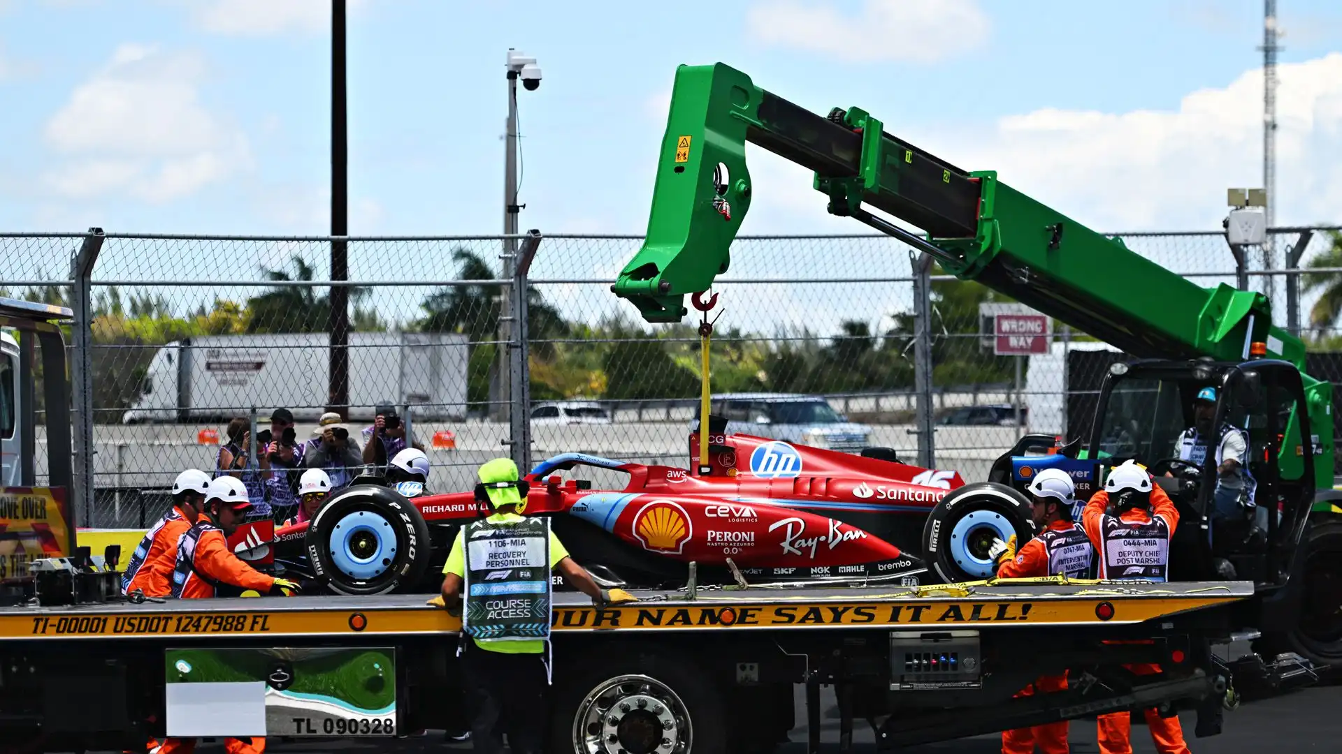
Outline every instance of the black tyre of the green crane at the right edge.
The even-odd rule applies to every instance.
[[[1342,669],[1342,518],[1310,526],[1300,620],[1286,645],[1315,665]]]

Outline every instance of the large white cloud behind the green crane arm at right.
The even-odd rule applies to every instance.
[[[1276,223],[1337,223],[1342,54],[1282,64],[1278,75]],[[964,169],[997,170],[1002,182],[1098,231],[1220,229],[1225,189],[1261,185],[1261,109],[1263,75],[1251,70],[1225,87],[1185,95],[1174,110],[1040,109],[896,136]],[[829,217],[804,172],[765,182],[785,172],[772,165],[778,158],[768,162],[752,156],[749,232],[863,229]]]

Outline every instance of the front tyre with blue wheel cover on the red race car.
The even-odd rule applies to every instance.
[[[323,504],[303,539],[313,576],[337,594],[413,588],[429,561],[428,525],[386,487],[358,484]]]

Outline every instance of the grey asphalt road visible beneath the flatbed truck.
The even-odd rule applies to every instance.
[[[798,687],[798,704],[801,691]],[[821,696],[821,704],[827,710],[833,708],[833,696],[828,690]],[[804,754],[807,750],[805,715],[798,706],[797,718],[801,726],[792,731],[792,741],[781,749],[780,754]],[[1188,737],[1188,746],[1193,754],[1264,754],[1276,751],[1290,751],[1302,754],[1307,751],[1338,751],[1338,739],[1342,737],[1342,724],[1337,715],[1342,710],[1342,686],[1323,686],[1288,692],[1276,698],[1245,703],[1233,712],[1225,715],[1225,729],[1221,735],[1209,738],[1193,738],[1193,715],[1182,718],[1184,731]],[[839,751],[839,720],[837,718],[821,718],[821,751]],[[1095,754],[1095,723],[1072,722],[1071,750],[1075,754]],[[395,742],[378,742],[373,739],[313,742],[313,743],[279,743],[267,742],[267,751],[290,751],[294,754],[317,754],[325,751],[342,753],[373,753],[396,751],[401,754],[429,754],[436,751],[470,751],[470,745],[443,743],[442,734],[429,734],[420,739],[401,739]],[[854,750],[858,753],[874,753],[876,750],[871,729],[866,723],[854,724]],[[221,751],[223,747],[200,746],[197,751]],[[930,743],[905,749],[907,754],[994,754],[1001,751],[1001,737],[978,735],[961,738],[942,743]],[[1151,738],[1145,724],[1133,726],[1133,751],[1137,754],[1154,753]]]

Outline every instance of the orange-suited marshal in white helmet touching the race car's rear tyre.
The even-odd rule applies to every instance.
[[[1094,578],[1095,549],[1082,526],[1074,521],[1082,506],[1074,499],[1076,486],[1072,476],[1060,468],[1045,468],[1035,475],[1028,491],[1031,515],[1041,534],[1025,542],[1019,553],[1015,534],[1008,542],[996,541],[988,554],[997,561],[997,576],[1031,578],[1062,574],[1070,578]],[[1067,672],[1039,676],[1016,696],[1032,696],[1036,690],[1044,694],[1067,691]],[[1039,746],[1044,754],[1067,754],[1067,720],[1059,720],[1004,730],[1002,753],[1031,754]]]

